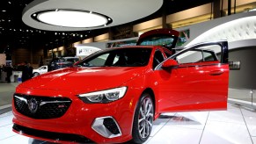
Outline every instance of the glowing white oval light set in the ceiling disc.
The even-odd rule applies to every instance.
[[[31,17],[47,25],[73,28],[106,26],[113,22],[112,18],[109,18],[103,14],[92,11],[80,10],[56,9],[48,11],[38,11],[33,13]]]

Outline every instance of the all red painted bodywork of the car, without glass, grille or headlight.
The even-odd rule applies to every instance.
[[[13,123],[43,132],[77,134],[97,143],[116,143],[132,139],[135,107],[144,91],[153,95],[155,118],[162,112],[226,109],[229,80],[227,63],[205,61],[179,64],[177,68],[169,70],[154,69],[152,63],[155,51],[160,50],[165,59],[167,57],[164,47],[150,48],[150,61],[143,67],[64,68],[19,84],[16,94],[68,97],[71,104],[60,118],[33,119],[18,112],[13,100]],[[77,97],[79,94],[123,86],[128,88],[125,96],[111,103],[86,104]],[[121,129],[121,136],[106,138],[91,128],[95,119],[106,116],[116,120]],[[13,131],[20,133],[15,129]],[[35,139],[60,142],[33,134],[21,134]]]

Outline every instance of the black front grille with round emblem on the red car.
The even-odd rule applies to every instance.
[[[67,97],[39,97],[14,94],[15,109],[33,119],[60,118],[69,109],[71,100]]]

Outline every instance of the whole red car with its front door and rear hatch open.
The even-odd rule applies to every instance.
[[[227,41],[172,48],[178,36],[146,32],[137,46],[109,48],[19,84],[13,131],[53,142],[143,143],[162,112],[225,110]]]

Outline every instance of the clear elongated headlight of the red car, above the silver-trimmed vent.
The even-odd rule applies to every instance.
[[[127,87],[115,88],[111,90],[102,90],[91,93],[80,94],[78,97],[84,103],[109,103],[120,99],[126,93]]]

